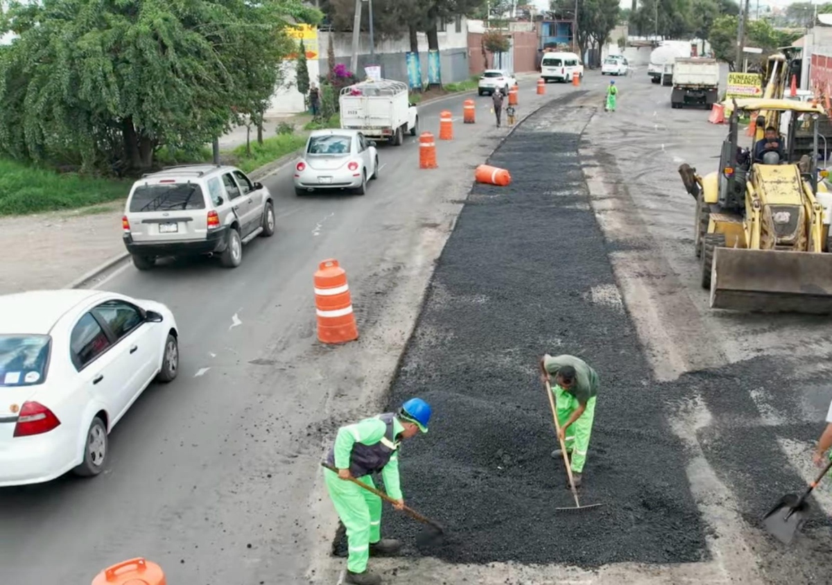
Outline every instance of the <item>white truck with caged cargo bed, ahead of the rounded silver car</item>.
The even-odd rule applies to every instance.
[[[409,101],[406,83],[391,79],[356,83],[341,90],[341,127],[361,131],[364,136],[404,142],[404,132],[416,136],[418,111]]]

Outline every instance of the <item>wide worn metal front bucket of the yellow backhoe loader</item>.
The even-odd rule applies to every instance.
[[[832,313],[832,254],[716,248],[711,309]]]

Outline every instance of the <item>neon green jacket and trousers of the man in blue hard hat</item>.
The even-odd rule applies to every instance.
[[[398,418],[393,420],[393,428],[396,436],[404,431]],[[377,444],[384,439],[386,430],[387,425],[378,418],[364,419],[359,423],[341,427],[335,437],[335,467],[349,468],[349,455],[353,445]],[[398,445],[388,464],[382,469],[381,477],[384,478],[384,488],[390,498],[404,498],[399,486]],[[375,487],[371,475],[356,479]],[[338,474],[329,469],[324,469],[324,482],[329,498],[332,498],[335,506],[335,512],[347,529],[347,568],[353,573],[364,573],[369,559],[369,544],[381,540],[381,498],[350,481],[339,479]]]

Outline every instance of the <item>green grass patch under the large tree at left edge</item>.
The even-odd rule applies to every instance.
[[[131,184],[0,159],[0,216],[96,206],[125,197]]]

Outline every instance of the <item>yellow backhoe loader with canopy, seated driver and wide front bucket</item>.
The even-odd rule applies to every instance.
[[[776,164],[770,154],[755,160],[756,140],[746,148],[737,137],[741,112],[792,112],[796,120],[798,113],[820,117],[823,108],[764,98],[723,105],[731,115],[718,169],[703,177],[687,164],[679,167],[696,198],[694,246],[711,308],[832,313],[832,193],[820,181],[827,171],[817,167],[817,156],[798,161],[788,149]]]

